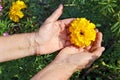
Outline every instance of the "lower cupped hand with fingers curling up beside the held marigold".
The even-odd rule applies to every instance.
[[[102,55],[104,47],[101,47],[101,42],[102,33],[97,32],[96,40],[91,46],[86,48],[66,47],[60,51],[54,61],[59,64],[76,66],[76,69],[87,68]]]

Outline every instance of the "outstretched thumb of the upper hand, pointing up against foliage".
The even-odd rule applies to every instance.
[[[63,5],[60,4],[59,7],[52,13],[50,17],[47,18],[45,22],[53,22],[58,20],[58,18],[62,15],[63,12]]]

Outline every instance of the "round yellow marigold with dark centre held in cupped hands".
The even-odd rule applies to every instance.
[[[86,47],[95,41],[95,24],[86,18],[77,18],[69,26],[70,42],[78,47]]]

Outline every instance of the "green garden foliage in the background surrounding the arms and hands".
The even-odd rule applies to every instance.
[[[27,8],[19,23],[9,19],[8,12],[13,1],[2,0],[3,15],[0,16],[0,35],[33,32],[44,20],[64,4],[60,19],[85,17],[96,24],[103,33],[102,57],[90,68],[73,74],[71,80],[120,80],[120,0],[24,0]],[[48,65],[56,54],[26,57],[0,63],[0,80],[29,80]]]

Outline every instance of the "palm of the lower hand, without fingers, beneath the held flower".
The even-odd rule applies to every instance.
[[[91,52],[85,49],[78,49],[72,46],[63,49],[58,56],[59,57],[57,58],[59,61],[75,65],[78,69],[90,66],[90,64],[94,61],[93,58],[98,57],[97,55],[93,55]]]

